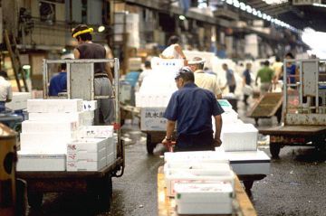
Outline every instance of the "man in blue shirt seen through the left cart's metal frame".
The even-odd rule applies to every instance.
[[[67,91],[67,65],[62,63],[61,72],[50,80],[49,96],[58,96],[60,92]]]

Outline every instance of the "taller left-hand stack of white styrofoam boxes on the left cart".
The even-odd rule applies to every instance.
[[[18,171],[64,171],[66,145],[82,121],[82,99],[29,99],[22,123]]]

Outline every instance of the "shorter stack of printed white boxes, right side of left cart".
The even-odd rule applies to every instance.
[[[82,127],[78,140],[67,145],[67,171],[99,171],[117,158],[113,127]]]

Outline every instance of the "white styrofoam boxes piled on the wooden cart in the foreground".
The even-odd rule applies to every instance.
[[[235,174],[225,158],[214,151],[165,154],[167,192],[176,198],[177,213],[232,213]]]

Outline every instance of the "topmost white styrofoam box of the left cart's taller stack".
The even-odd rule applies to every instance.
[[[27,112],[82,112],[82,99],[28,99]]]

